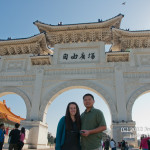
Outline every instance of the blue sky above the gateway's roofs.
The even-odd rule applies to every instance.
[[[126,5],[122,2],[126,1]],[[119,13],[121,28],[150,29],[149,0],[0,0],[0,39],[26,38],[38,34],[33,22],[47,24],[96,22]]]

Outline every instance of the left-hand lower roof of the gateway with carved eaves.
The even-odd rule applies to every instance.
[[[19,54],[48,55],[53,52],[46,45],[44,33],[26,39],[0,40],[0,56]]]

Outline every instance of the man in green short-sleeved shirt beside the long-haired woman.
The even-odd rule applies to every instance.
[[[102,131],[106,130],[103,113],[95,109],[94,96],[85,94],[83,103],[86,110],[81,115],[81,147],[82,150],[101,150]]]

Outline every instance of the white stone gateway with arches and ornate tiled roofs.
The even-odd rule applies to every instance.
[[[73,88],[90,89],[105,100],[117,142],[136,135],[132,107],[150,90],[150,32],[121,30],[122,18],[58,26],[36,21],[40,34],[0,40],[0,93],[24,99],[28,148],[47,147],[48,107]],[[107,53],[106,44],[112,44]],[[137,145],[136,137],[130,144]]]

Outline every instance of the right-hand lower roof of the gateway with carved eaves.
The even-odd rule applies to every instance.
[[[112,51],[125,51],[135,48],[150,48],[150,31],[129,31],[112,28]]]

